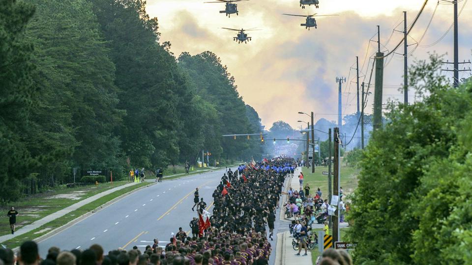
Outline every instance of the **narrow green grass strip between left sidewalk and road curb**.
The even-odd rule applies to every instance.
[[[113,199],[115,199],[115,198],[117,198],[117,197],[119,197],[123,194],[126,194],[130,191],[133,191],[137,188],[140,188],[140,187],[146,186],[146,185],[149,185],[149,184],[148,183],[139,183],[137,185],[132,185],[132,186],[125,187],[123,189],[117,190],[115,192],[112,192],[112,193],[110,193],[106,196],[103,196],[103,197],[99,198],[98,200],[95,200],[95,201],[93,201],[89,204],[86,204],[86,205],[82,206],[81,208],[79,208],[79,209],[77,209],[73,212],[69,212],[66,215],[64,215],[62,217],[59,217],[58,219],[53,220],[53,221],[51,221],[51,222],[49,222],[49,223],[47,223],[47,224],[45,224],[45,225],[43,225],[43,226],[41,226],[37,229],[34,229],[34,230],[32,230],[32,231],[30,231],[26,234],[23,234],[21,236],[12,238],[10,240],[7,240],[7,241],[1,242],[1,243],[6,245],[9,248],[18,247],[24,241],[39,238],[39,237],[49,233],[50,231],[67,224],[68,222],[76,219],[77,217],[82,216],[83,214],[86,214],[88,212],[92,212],[93,210],[100,207],[101,205],[103,205],[107,202],[110,202]]]

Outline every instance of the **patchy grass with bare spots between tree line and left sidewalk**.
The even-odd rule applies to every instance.
[[[84,199],[94,196],[103,191],[109,190],[128,182],[120,181],[111,183],[102,183],[97,187],[95,185],[87,185],[81,187],[67,188],[65,185],[58,185],[51,188],[47,192],[39,193],[12,203],[20,213],[17,218],[17,227],[21,228],[37,221],[51,213],[62,210]],[[0,208],[0,212],[7,212],[10,206]],[[2,216],[0,224],[0,236],[10,234],[10,226],[8,225],[8,217]]]

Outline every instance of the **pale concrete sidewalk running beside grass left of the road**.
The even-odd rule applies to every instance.
[[[81,208],[82,206],[86,205],[86,204],[89,204],[93,201],[96,201],[98,200],[99,198],[103,197],[103,196],[106,196],[110,193],[113,193],[117,190],[120,190],[120,189],[123,189],[123,188],[126,188],[126,187],[129,187],[129,186],[132,186],[132,185],[135,185],[136,183],[129,183],[129,184],[125,184],[125,185],[121,185],[121,186],[118,186],[118,187],[115,187],[115,188],[112,188],[112,189],[109,189],[107,191],[104,191],[104,192],[101,192],[101,193],[98,193],[96,195],[93,195],[87,199],[84,199],[78,203],[75,203],[69,207],[66,207],[58,212],[55,212],[53,214],[50,214],[48,216],[45,216],[43,217],[42,219],[39,219],[37,221],[34,221],[33,223],[29,224],[29,225],[26,225],[20,229],[18,229],[17,231],[15,231],[15,234],[12,235],[12,234],[9,234],[9,235],[5,235],[5,236],[1,236],[0,237],[0,242],[4,242],[6,240],[9,240],[11,238],[15,238],[17,236],[20,236],[20,235],[23,235],[23,234],[26,234],[28,232],[31,232],[32,230],[36,229],[36,228],[39,228],[41,227],[42,225],[45,225],[59,217],[62,217],[64,215],[66,215],[67,213],[69,212],[73,212],[79,208]]]

